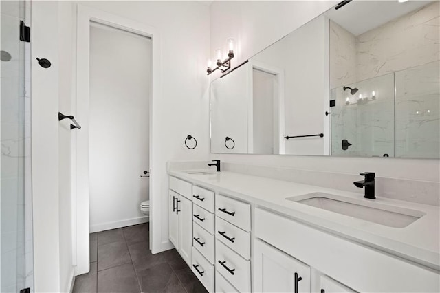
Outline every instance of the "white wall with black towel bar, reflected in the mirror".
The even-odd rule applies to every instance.
[[[285,72],[284,105],[285,135],[312,135],[325,133],[322,113],[328,109],[328,91],[325,91],[328,72],[328,21],[319,17],[293,34],[252,57],[252,61],[278,67]],[[327,129],[326,129],[327,130]],[[285,140],[285,153],[291,155],[323,155],[325,140],[320,137]]]

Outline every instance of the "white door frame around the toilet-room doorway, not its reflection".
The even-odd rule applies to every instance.
[[[151,94],[149,98],[150,120],[150,239],[151,249],[155,252],[153,241],[157,232],[154,229],[155,202],[153,194],[159,194],[156,189],[160,184],[154,181],[157,168],[153,153],[153,100],[159,98],[160,85],[160,36],[157,28],[145,23],[133,21],[109,12],[78,4],[76,23],[76,96],[72,98],[74,116],[81,124],[81,129],[72,131],[72,261],[76,265],[76,275],[85,274],[90,270],[89,255],[89,61],[90,61],[90,22],[94,21],[113,28],[134,32],[151,38]],[[157,178],[158,179],[158,178]],[[160,206],[158,207],[160,208]],[[159,221],[159,219],[157,219]]]

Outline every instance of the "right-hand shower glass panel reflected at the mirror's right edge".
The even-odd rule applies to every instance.
[[[440,63],[395,73],[396,157],[439,158]]]

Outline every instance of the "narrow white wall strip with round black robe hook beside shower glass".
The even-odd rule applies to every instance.
[[[58,3],[32,3],[32,194],[35,292],[60,292]],[[52,61],[43,69],[35,58]],[[66,272],[68,275],[68,272]]]

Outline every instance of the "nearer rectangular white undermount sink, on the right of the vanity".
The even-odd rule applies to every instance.
[[[287,197],[287,200],[393,228],[404,228],[425,215],[419,210],[381,204],[374,200],[342,197],[330,193],[309,193]]]

